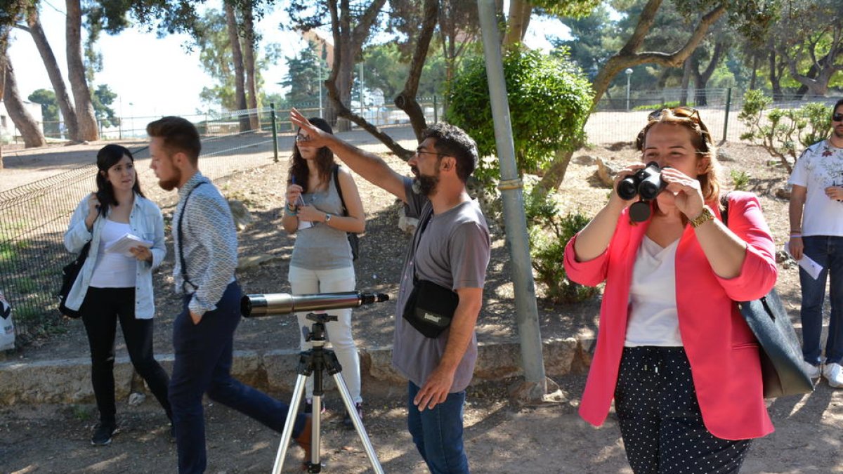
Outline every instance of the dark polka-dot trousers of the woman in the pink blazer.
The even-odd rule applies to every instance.
[[[749,449],[749,439],[717,438],[702,423],[683,347],[625,347],[615,412],[636,474],[733,474]]]

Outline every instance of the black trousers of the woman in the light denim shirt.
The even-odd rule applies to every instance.
[[[137,373],[172,418],[167,397],[167,373],[153,356],[153,320],[135,319],[135,288],[88,288],[80,308],[91,348],[91,382],[99,421],[115,424],[114,353],[117,320],[126,350]]]

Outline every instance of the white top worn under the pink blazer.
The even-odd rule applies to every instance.
[[[676,247],[679,239],[662,248],[647,235],[632,266],[629,319],[625,347],[680,347],[676,310]]]

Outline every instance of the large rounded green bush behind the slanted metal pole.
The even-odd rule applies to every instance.
[[[561,152],[583,143],[592,90],[564,52],[556,56],[521,48],[503,58],[518,170],[543,170]],[[494,122],[485,57],[474,57],[450,89],[447,120],[470,132],[481,156],[494,155]],[[483,160],[475,175],[490,183],[500,176],[497,160]]]

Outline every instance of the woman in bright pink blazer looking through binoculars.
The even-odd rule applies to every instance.
[[[642,163],[618,173],[565,250],[572,281],[606,283],[579,412],[600,425],[615,400],[636,474],[738,472],[750,439],[773,426],[758,343],[734,301],[776,283],[775,245],[750,193],[728,194],[722,223],[717,156],[697,110],[653,113],[636,145]],[[660,172],[656,197],[620,197],[618,184],[645,167]]]

